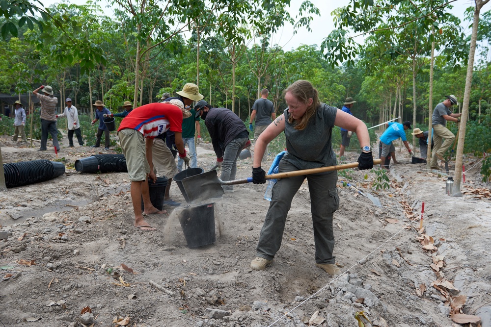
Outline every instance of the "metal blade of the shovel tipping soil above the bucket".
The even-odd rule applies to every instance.
[[[191,203],[221,197],[224,192],[220,182],[215,169],[182,180],[183,187]]]

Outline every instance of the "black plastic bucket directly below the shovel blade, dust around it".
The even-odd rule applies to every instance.
[[[215,203],[184,208],[179,222],[189,248],[215,243]]]

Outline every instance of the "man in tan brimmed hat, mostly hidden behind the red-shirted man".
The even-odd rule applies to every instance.
[[[203,96],[199,93],[199,88],[196,84],[186,83],[182,89],[182,91],[176,92],[177,97],[167,97],[163,100],[162,103],[169,101],[179,101],[182,103],[183,108],[186,106],[190,106],[193,101],[199,101],[203,99]],[[165,95],[165,94],[164,94]],[[164,96],[163,96],[164,98]],[[181,126],[182,130],[182,126]],[[165,188],[164,194],[164,204],[170,206],[179,206],[181,203],[174,201],[170,198],[170,185],[172,182],[172,178],[178,174],[176,160],[174,155],[172,154],[171,149],[174,147],[173,144],[166,144],[166,136],[167,134],[174,134],[173,130],[167,131],[164,134],[157,136],[154,139],[154,144],[152,147],[153,151],[153,165],[157,170],[157,176],[159,177],[167,177],[168,183]],[[172,135],[173,143],[177,147],[175,136]],[[178,149],[179,151],[179,149]],[[179,151],[181,153],[181,151]]]

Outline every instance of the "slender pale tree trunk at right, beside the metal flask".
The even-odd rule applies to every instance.
[[[474,18],[472,20],[472,34],[470,37],[469,59],[467,61],[467,75],[465,78],[464,100],[460,123],[459,140],[457,145],[457,157],[455,159],[453,196],[462,197],[462,159],[464,156],[465,127],[467,125],[467,113],[469,111],[470,89],[472,86],[472,71],[474,68],[474,55],[476,52],[477,30],[479,26],[479,13],[482,7],[490,0],[475,0]]]

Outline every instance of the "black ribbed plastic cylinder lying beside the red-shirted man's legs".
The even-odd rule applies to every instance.
[[[79,173],[127,173],[124,154],[94,154],[75,161]]]

